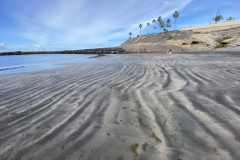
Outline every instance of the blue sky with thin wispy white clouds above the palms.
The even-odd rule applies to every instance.
[[[174,11],[180,29],[213,23],[218,10],[240,19],[239,0],[0,0],[0,52],[114,47],[140,23],[143,34],[154,32],[158,16],[172,30]]]

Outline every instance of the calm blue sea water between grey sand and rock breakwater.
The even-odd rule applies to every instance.
[[[63,67],[66,63],[94,61],[89,54],[31,54],[0,56],[0,75]],[[62,64],[62,65],[60,65]]]

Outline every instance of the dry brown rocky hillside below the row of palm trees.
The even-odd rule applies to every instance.
[[[144,35],[121,44],[126,52],[240,51],[240,21]]]

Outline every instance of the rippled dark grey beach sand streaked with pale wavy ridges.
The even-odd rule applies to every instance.
[[[0,159],[239,159],[240,56],[132,54],[0,76]]]

